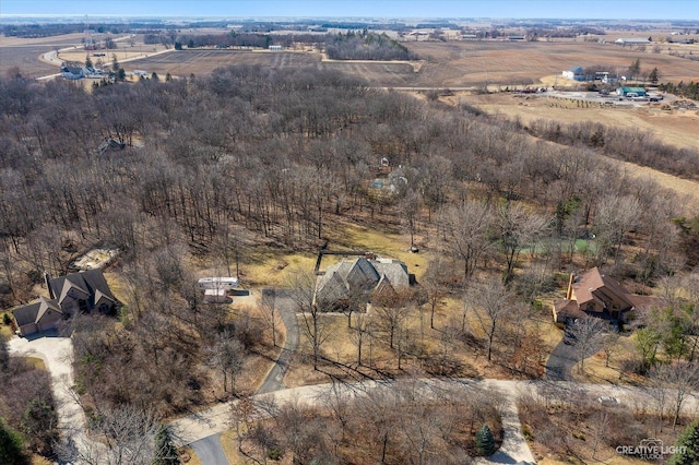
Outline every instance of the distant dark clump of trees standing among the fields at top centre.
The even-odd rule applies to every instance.
[[[329,35],[325,52],[333,60],[416,60],[417,56],[386,34]]]

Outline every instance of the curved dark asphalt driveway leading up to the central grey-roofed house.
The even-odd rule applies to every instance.
[[[260,385],[260,389],[258,389],[258,394],[284,389],[284,375],[292,365],[294,354],[298,348],[299,342],[296,305],[294,303],[294,300],[289,298],[288,291],[284,289],[262,289],[262,295],[272,296],[274,298],[274,306],[276,307],[279,314],[282,318],[282,322],[284,323],[284,327],[286,329],[286,337],[284,339],[282,353]]]

